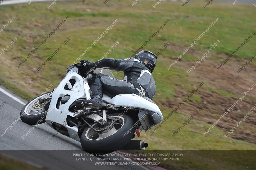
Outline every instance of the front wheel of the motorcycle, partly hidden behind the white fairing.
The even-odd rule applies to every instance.
[[[44,123],[51,100],[51,93],[53,92],[45,93],[30,100],[20,112],[21,120],[29,125]]]

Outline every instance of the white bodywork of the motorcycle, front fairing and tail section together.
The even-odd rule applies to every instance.
[[[73,79],[75,80],[75,83]],[[68,86],[67,82],[73,82],[73,86],[71,89],[65,90],[64,87]],[[52,122],[63,125],[68,130],[70,138],[80,141],[78,137],[77,127],[68,126],[66,120],[68,115],[70,115],[71,117],[76,116],[76,113],[69,112],[69,107],[72,103],[74,103],[77,99],[80,98],[90,99],[89,90],[90,88],[88,86],[86,79],[83,79],[79,73],[73,70],[69,71],[52,94],[52,99],[49,108],[53,109],[49,109],[49,111],[47,112],[46,123],[52,128]],[[58,106],[58,99],[60,103],[60,98],[62,98],[65,95],[70,96],[69,100],[66,103],[59,104]],[[163,115],[156,104],[136,94],[117,95],[113,98],[109,97],[106,94],[103,94],[102,101],[107,102],[108,104],[115,104],[116,108],[134,107],[142,110],[156,112],[159,115],[161,121],[163,120]]]

